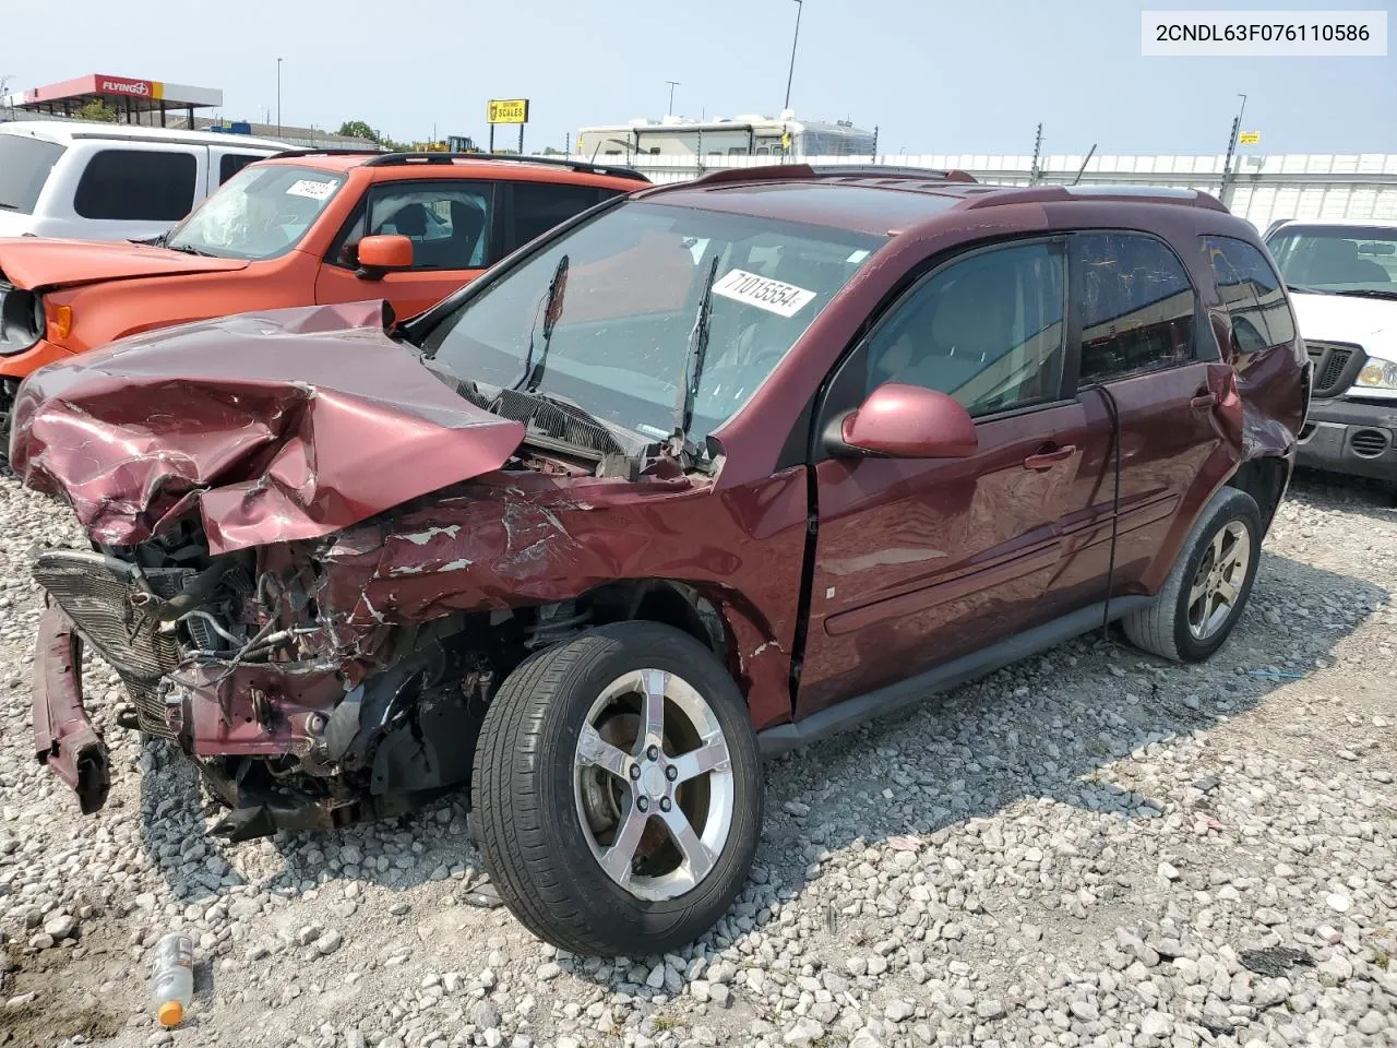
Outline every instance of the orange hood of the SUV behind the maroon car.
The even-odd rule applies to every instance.
[[[182,277],[246,270],[243,259],[205,259],[136,243],[99,240],[0,239],[0,272],[17,288],[75,286],[133,277]]]

